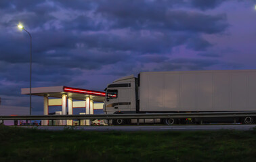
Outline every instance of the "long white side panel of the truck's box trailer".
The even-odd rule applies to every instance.
[[[140,111],[255,111],[256,70],[142,72]]]

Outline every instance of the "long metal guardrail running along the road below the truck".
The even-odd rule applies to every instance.
[[[130,113],[102,115],[16,115],[0,116],[0,120],[55,120],[55,119],[163,119],[193,117],[246,117],[256,116],[256,111],[230,111],[209,113]]]

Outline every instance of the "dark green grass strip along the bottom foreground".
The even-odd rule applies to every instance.
[[[83,132],[0,126],[0,161],[256,161],[256,130]]]

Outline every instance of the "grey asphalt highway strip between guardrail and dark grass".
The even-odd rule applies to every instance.
[[[200,125],[200,126],[38,126],[39,130],[83,130],[83,131],[196,131],[196,130],[252,130],[253,125]],[[26,126],[25,128],[31,128]]]

